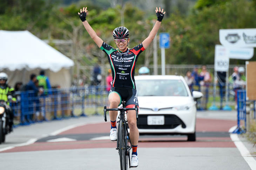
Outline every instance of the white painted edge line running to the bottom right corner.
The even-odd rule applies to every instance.
[[[251,156],[248,149],[244,146],[243,142],[240,141],[237,134],[230,134],[231,140],[235,143],[237,149],[240,151],[244,160],[248,163],[252,170],[256,170],[256,161],[254,157]]]

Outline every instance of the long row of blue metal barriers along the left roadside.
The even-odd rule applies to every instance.
[[[16,95],[17,102],[11,107],[18,125],[87,116],[88,109],[97,115],[100,107],[108,105],[108,92],[102,86],[52,88],[41,95],[23,91]]]

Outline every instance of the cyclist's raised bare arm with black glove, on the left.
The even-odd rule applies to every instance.
[[[83,23],[83,26],[85,27],[85,29],[87,30],[87,32],[89,33],[90,37],[93,39],[93,41],[98,45],[98,47],[100,48],[103,40],[101,40],[100,37],[97,36],[97,34],[95,33],[95,31],[93,30],[93,28],[89,25],[89,23],[86,21],[86,12],[87,12],[87,7],[83,7],[83,10],[80,9],[80,19]]]

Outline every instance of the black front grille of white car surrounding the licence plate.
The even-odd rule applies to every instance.
[[[162,115],[162,114],[161,114]],[[159,114],[150,114],[150,116],[159,116]],[[137,127],[140,129],[174,129],[179,125],[182,128],[186,128],[185,123],[174,114],[164,114],[164,125],[148,125],[148,115],[139,114],[139,120],[137,121]]]

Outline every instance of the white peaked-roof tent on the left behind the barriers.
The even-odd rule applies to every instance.
[[[29,31],[0,30],[0,71],[9,76],[9,84],[27,83],[31,73],[46,70],[52,85],[71,84],[70,67],[74,62]]]

